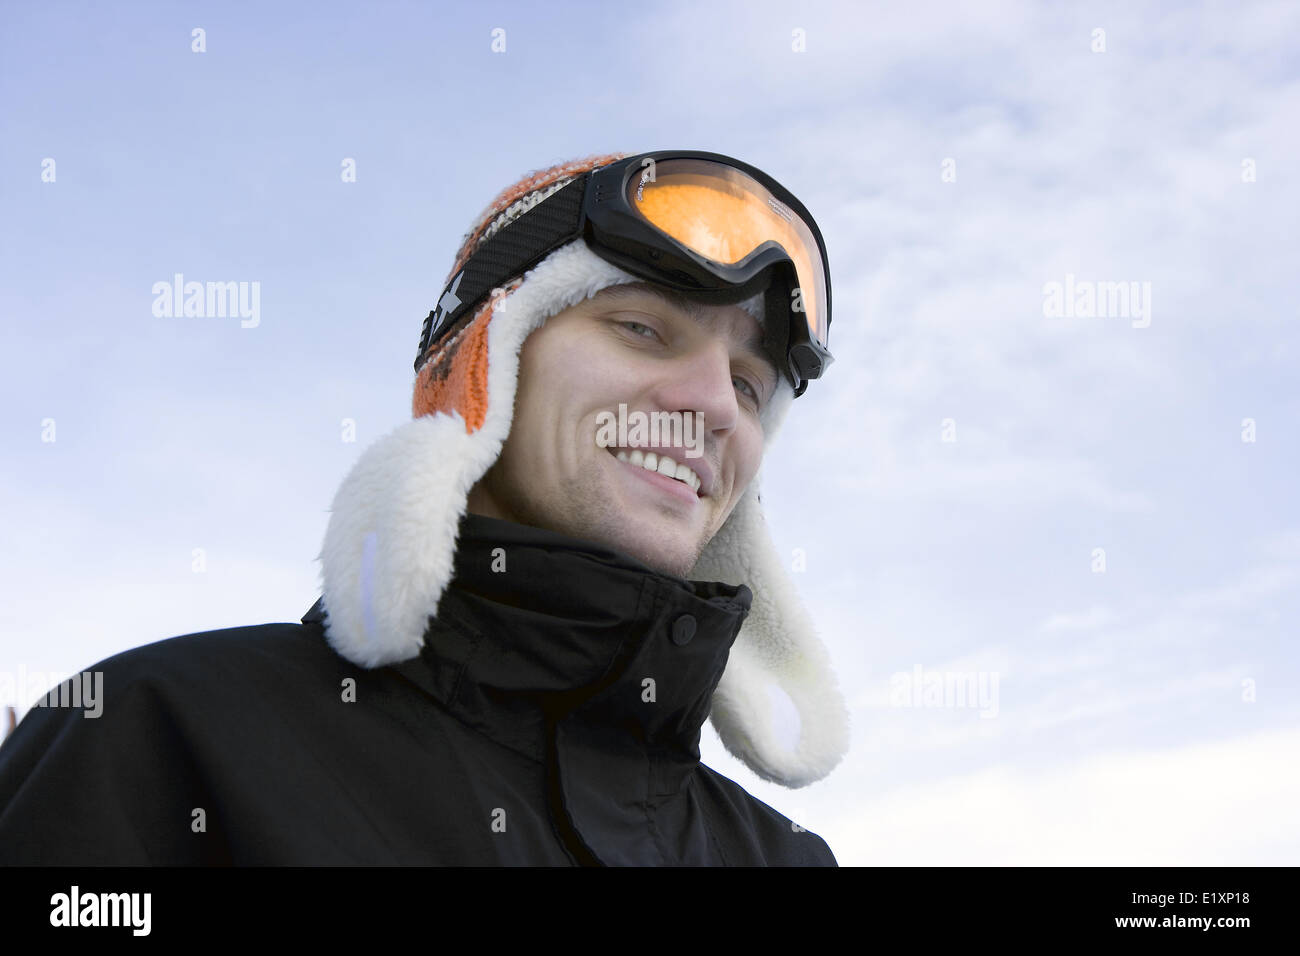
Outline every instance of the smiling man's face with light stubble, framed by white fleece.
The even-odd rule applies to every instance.
[[[510,437],[471,490],[469,511],[599,541],[688,576],[758,471],[759,412],[779,380],[759,324],[740,306],[675,304],[655,291],[641,282],[611,286],[528,337]],[[692,476],[682,483],[651,472],[601,445],[620,403],[629,423],[637,414],[645,423],[653,412],[681,412],[690,431],[637,441],[629,428],[623,450],[670,447],[673,462],[702,480],[698,492]]]

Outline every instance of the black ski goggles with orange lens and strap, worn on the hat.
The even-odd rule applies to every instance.
[[[764,347],[796,395],[833,360],[826,243],[803,204],[729,156],[658,151],[578,176],[482,242],[424,320],[416,368],[493,289],[578,237],[606,261],[697,302],[763,293]]]

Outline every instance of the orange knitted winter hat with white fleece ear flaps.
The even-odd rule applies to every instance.
[[[499,229],[608,153],[533,172],[476,219],[447,282]],[[335,494],[321,561],[325,633],[344,658],[380,667],[416,657],[452,576],[469,490],[510,436],[519,354],[549,317],[611,285],[644,282],[576,239],[491,291],[433,342],[419,364],[413,419],[369,446]],[[763,321],[762,294],[741,303]],[[760,414],[764,447],[794,393],[779,376]],[[706,545],[693,580],[745,584],[753,604],[712,696],[727,749],[785,787],[822,779],[844,757],[849,717],[820,639],[772,545],[759,475]]]

